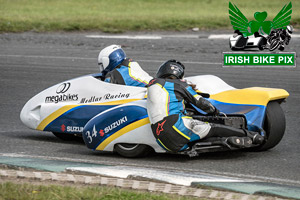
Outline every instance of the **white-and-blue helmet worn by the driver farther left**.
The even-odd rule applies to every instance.
[[[102,49],[98,56],[100,72],[107,73],[117,67],[126,58],[126,54],[120,45],[110,45]]]

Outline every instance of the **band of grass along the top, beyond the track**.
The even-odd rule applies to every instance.
[[[231,0],[248,19],[272,20],[287,0]],[[292,1],[300,25],[300,1]],[[232,29],[225,0],[0,0],[0,32]]]

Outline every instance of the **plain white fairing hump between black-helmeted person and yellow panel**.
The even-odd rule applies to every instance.
[[[217,94],[227,90],[236,89],[214,75],[191,76],[186,77],[185,79],[188,82],[195,84],[200,92],[208,94]]]

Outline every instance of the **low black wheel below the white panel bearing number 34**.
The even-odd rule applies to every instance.
[[[128,158],[144,157],[151,153],[153,149],[145,144],[119,143],[114,149],[118,154]]]

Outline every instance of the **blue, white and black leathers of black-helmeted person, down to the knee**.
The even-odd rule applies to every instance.
[[[214,106],[185,81],[153,79],[148,84],[147,112],[157,142],[168,151],[180,151],[187,143],[204,138],[211,126],[186,116],[185,102],[205,112],[214,112]]]

